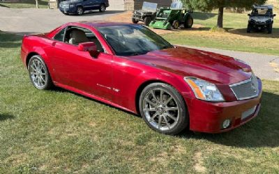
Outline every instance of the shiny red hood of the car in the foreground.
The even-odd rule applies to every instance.
[[[129,59],[184,77],[199,77],[215,84],[235,84],[249,79],[252,74],[249,65],[234,58],[186,47],[158,50]]]

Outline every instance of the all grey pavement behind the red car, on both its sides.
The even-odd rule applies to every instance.
[[[63,15],[58,9],[13,9],[0,7],[0,30],[17,34],[49,32],[66,22],[105,20],[122,12],[108,9],[105,13],[99,13],[97,10],[82,16],[69,16]],[[232,52],[211,48],[195,48],[239,58],[251,65],[255,74],[261,79],[279,81],[279,56]]]

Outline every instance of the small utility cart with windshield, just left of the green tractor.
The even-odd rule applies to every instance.
[[[134,10],[132,22],[137,24],[142,21],[146,26],[156,17],[157,3],[145,2],[142,5],[142,10]]]

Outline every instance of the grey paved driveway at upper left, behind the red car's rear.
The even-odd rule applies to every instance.
[[[105,20],[121,11],[107,10],[99,13],[86,13],[82,16],[63,15],[58,9],[15,9],[0,7],[0,29],[11,33],[48,32],[66,22],[85,20]]]

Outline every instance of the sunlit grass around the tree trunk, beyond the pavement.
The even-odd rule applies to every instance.
[[[248,24],[247,14],[225,13],[224,28],[226,32],[211,32],[216,26],[217,12],[195,12],[194,28],[164,34],[163,37],[177,45],[191,45],[197,47],[213,47],[240,52],[256,52],[279,56],[279,1],[269,0],[277,13],[273,24],[273,33],[246,33]]]

